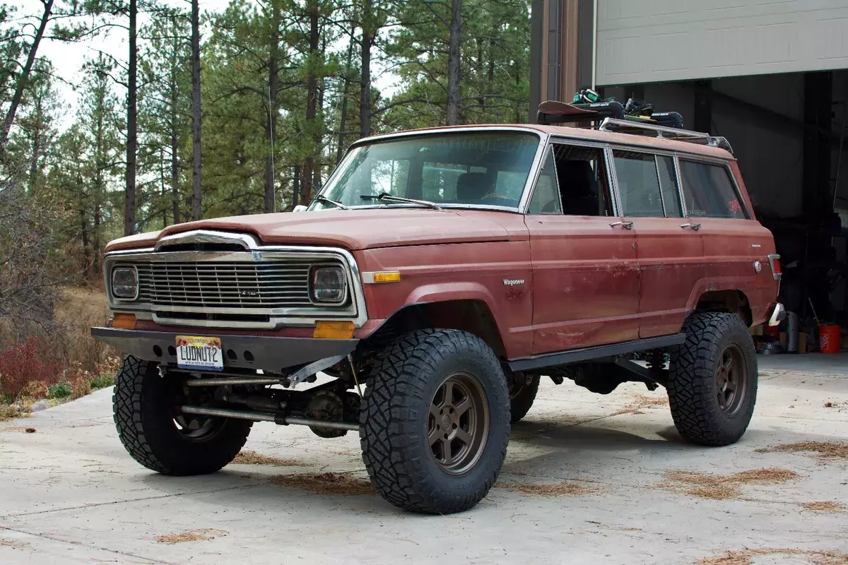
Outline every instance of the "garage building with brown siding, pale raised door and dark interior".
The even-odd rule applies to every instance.
[[[734,147],[781,300],[848,325],[848,0],[533,0],[531,121],[594,86]]]

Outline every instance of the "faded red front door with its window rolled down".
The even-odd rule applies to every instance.
[[[554,143],[527,211],[533,352],[639,336],[636,236],[612,215],[603,147]]]

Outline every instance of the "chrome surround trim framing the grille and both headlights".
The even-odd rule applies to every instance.
[[[245,251],[157,251],[164,246],[191,243],[204,244],[237,244]],[[266,260],[295,259],[298,261],[326,261],[332,259],[341,264],[345,274],[351,300],[348,306],[332,307],[325,304],[312,307],[209,307],[209,306],[160,306],[153,302],[119,301],[112,293],[112,267],[117,263],[261,263]],[[365,295],[362,291],[362,278],[354,256],[345,249],[338,247],[320,246],[274,246],[261,245],[251,235],[229,234],[212,230],[193,230],[184,234],[169,235],[162,238],[156,246],[144,249],[132,249],[109,252],[103,261],[103,274],[106,280],[106,291],[109,296],[109,308],[112,313],[135,313],[139,319],[153,319],[161,325],[195,326],[201,328],[243,328],[273,330],[281,326],[310,326],[320,319],[351,320],[355,327],[361,327],[368,319],[365,309]],[[209,313],[209,314],[243,314],[268,316],[265,321],[240,320],[199,320],[163,317],[157,314],[168,312]],[[149,316],[149,318],[148,318]]]

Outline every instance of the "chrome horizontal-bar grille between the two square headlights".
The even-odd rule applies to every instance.
[[[164,307],[311,307],[310,267],[316,263],[155,262],[138,270],[140,302]],[[329,263],[338,264],[338,263]]]

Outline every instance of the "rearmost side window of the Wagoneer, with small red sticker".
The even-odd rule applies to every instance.
[[[727,167],[681,160],[680,178],[689,216],[746,218]]]

